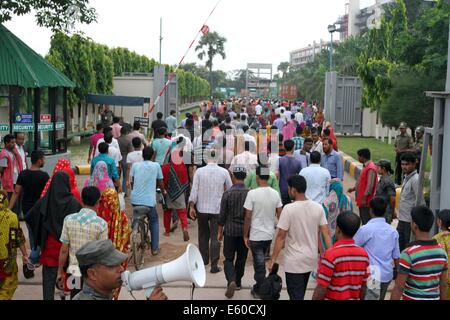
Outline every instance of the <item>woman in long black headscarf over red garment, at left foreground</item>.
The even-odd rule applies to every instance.
[[[57,172],[44,197],[39,199],[26,216],[32,229],[34,243],[42,248],[41,264],[44,300],[53,300],[61,249],[64,219],[82,209],[72,194],[70,178],[65,170]]]

